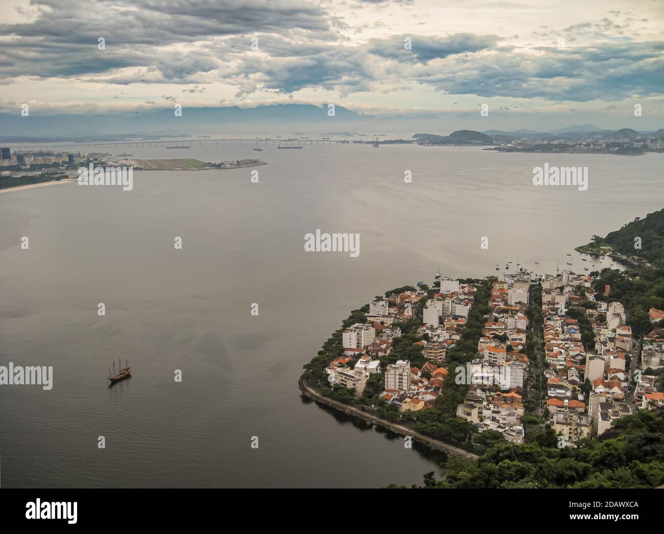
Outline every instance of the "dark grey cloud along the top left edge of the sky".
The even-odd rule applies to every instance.
[[[326,32],[325,11],[295,0],[33,0],[39,16],[31,23],[0,24],[0,35],[27,45],[109,43],[166,44],[244,33],[286,33],[293,28]]]

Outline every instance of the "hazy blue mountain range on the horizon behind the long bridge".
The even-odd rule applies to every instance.
[[[477,119],[473,118],[469,122]],[[458,121],[457,121],[458,122]],[[329,116],[327,106],[311,104],[272,104],[241,108],[228,106],[219,108],[183,108],[182,116],[175,116],[173,110],[155,112],[127,112],[116,114],[54,114],[43,115],[35,112],[27,117],[20,114],[0,114],[0,142],[46,142],[56,140],[106,140],[131,137],[192,137],[197,135],[242,135],[256,134],[265,137],[284,134],[307,135],[316,138],[380,136],[393,139],[397,135],[410,138],[408,132],[436,132],[415,134],[414,137],[434,136],[438,140],[446,137],[449,143],[495,141],[520,137],[540,139],[606,139],[612,136],[633,139],[639,134],[649,135],[652,130],[637,132],[625,128],[621,135],[614,132],[618,128],[598,128],[593,124],[568,126],[555,130],[458,130],[451,128],[441,114],[361,114],[336,106],[334,115]],[[448,128],[446,125],[450,124]],[[396,126],[395,126],[396,125]],[[431,128],[435,125],[434,128]],[[469,124],[469,126],[471,126]],[[398,129],[397,129],[398,128]],[[425,129],[426,128],[426,129]],[[442,130],[442,132],[441,132]],[[454,132],[452,135],[445,135]],[[385,132],[401,132],[389,134]],[[664,134],[657,130],[655,135]]]

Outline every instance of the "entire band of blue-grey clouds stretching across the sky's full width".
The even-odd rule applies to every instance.
[[[664,84],[660,41],[621,38],[524,50],[501,44],[498,35],[457,33],[349,44],[335,33],[337,15],[301,0],[34,0],[33,5],[38,13],[32,22],[0,25],[0,33],[11,35],[0,41],[0,83],[21,75],[103,77],[114,84],[212,80],[235,86],[238,95],[321,88],[341,96],[421,85],[450,94],[580,102],[657,95]],[[597,28],[582,23],[563,33],[567,39]],[[106,39],[106,50],[98,50],[98,37]],[[258,50],[250,48],[252,37],[258,38]],[[412,50],[404,49],[406,37]]]

